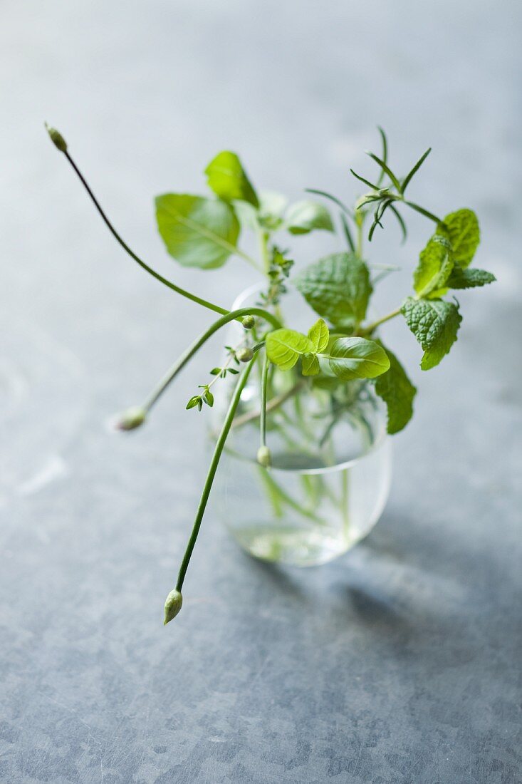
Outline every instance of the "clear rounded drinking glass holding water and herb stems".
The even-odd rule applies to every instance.
[[[252,291],[245,292],[234,307],[252,301]],[[310,324],[313,320],[312,314]],[[237,341],[238,334],[241,328],[230,340]],[[267,412],[272,465],[266,469],[256,461],[260,368],[258,362],[241,396],[214,503],[230,534],[252,556],[296,566],[324,564],[366,536],[386,504],[391,480],[386,408],[371,382],[337,384],[332,392],[328,382],[317,387],[296,371],[273,368],[271,399],[281,402]],[[216,414],[223,416],[219,408]]]

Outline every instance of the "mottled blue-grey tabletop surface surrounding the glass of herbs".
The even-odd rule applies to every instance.
[[[520,2],[0,12],[0,780],[520,782]],[[401,172],[433,145],[411,194],[477,210],[498,284],[462,293],[459,342],[430,374],[404,325],[386,331],[419,397],[389,506],[351,554],[263,566],[211,506],[183,613],[161,625],[206,463],[183,405],[212,351],[143,432],[106,423],[209,317],[118,249],[44,119],[131,244],[222,303],[251,270],[179,270],[154,194],[198,191],[229,147],[261,187],[350,198],[378,122]],[[404,266],[382,307],[430,231],[410,225],[407,248],[393,224],[376,236],[374,260]]]

